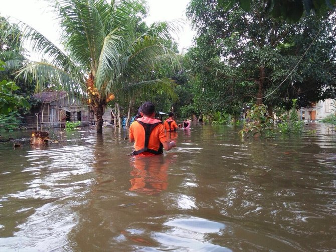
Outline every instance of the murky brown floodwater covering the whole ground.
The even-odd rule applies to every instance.
[[[0,143],[0,251],[336,251],[336,133],[193,125],[129,156],[127,129]],[[316,130],[316,133],[313,131]]]

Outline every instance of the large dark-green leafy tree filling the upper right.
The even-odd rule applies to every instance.
[[[310,16],[290,25],[270,17],[261,3],[253,1],[246,13],[237,6],[225,12],[215,0],[191,1],[187,15],[199,34],[190,51],[198,76],[196,96],[235,108],[239,100],[254,100],[268,105],[269,114],[275,106],[289,108],[293,98],[303,105],[332,96],[335,16]]]

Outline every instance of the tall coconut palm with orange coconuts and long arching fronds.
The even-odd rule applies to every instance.
[[[31,63],[19,74],[32,73],[37,89],[46,79],[57,78],[68,92],[89,98],[97,133],[102,133],[104,107],[115,97],[128,99],[149,85],[159,85],[173,97],[174,83],[170,79],[147,81],[143,73],[154,62],[175,56],[164,42],[172,40],[171,32],[176,28],[163,22],[139,34],[134,4],[139,5],[136,1],[53,0],[64,49],[25,25],[24,34],[33,49],[48,54],[51,63]]]

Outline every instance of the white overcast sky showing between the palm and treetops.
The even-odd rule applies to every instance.
[[[180,53],[192,46],[195,32],[192,31],[186,19],[185,11],[190,0],[146,0],[149,7],[149,15],[145,19],[147,25],[158,21],[180,20],[183,24],[178,35],[174,36],[179,44]],[[0,0],[0,15],[14,17],[41,32],[50,41],[57,44],[57,25],[53,14],[47,9],[47,5],[39,0]],[[38,56],[35,56],[38,57]],[[39,60],[31,57],[32,60]]]

